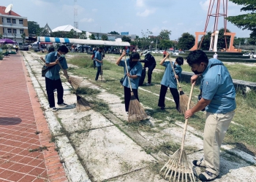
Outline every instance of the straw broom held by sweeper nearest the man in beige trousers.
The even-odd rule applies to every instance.
[[[170,63],[170,65],[173,68],[173,63]],[[176,76],[176,72],[173,68],[173,74]],[[181,85],[178,82],[178,79],[176,78],[177,83],[178,83],[178,90],[179,90],[179,103],[178,103],[178,111],[182,114],[184,114],[187,111],[187,100],[189,100],[189,97],[183,92],[183,90],[181,89]],[[190,103],[190,108],[192,108],[192,106],[195,106],[194,103]]]

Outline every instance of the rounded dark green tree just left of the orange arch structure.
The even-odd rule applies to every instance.
[[[195,44],[195,36],[190,33],[182,33],[181,37],[178,38],[178,48],[181,50],[189,50]]]

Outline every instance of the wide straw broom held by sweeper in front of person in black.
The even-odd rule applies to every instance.
[[[128,73],[127,58],[126,57],[125,57],[124,63],[125,63],[125,68],[127,69],[127,73]],[[131,90],[131,99],[129,100],[129,110],[128,110],[128,113],[129,113],[128,122],[136,122],[136,121],[144,120],[148,116],[147,116],[144,108],[140,105],[137,98],[135,98],[135,95],[132,92],[131,81],[129,80],[128,76],[127,76],[127,78],[128,78],[128,81],[129,81],[129,88]]]

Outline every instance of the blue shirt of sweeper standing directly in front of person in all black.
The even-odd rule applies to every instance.
[[[125,75],[127,75],[127,69],[125,68],[124,61],[125,60],[121,60],[120,63],[118,64],[118,66],[123,66],[124,67],[124,76],[125,76]],[[138,76],[137,79],[129,78],[129,80],[131,81],[131,84],[132,84],[132,89],[138,89],[140,76],[141,76],[141,72],[142,72],[142,65],[141,65],[140,62],[137,62],[136,65],[132,67],[132,70],[130,70],[129,58],[127,58],[126,61],[127,61],[127,68],[128,68],[129,74]],[[129,88],[128,76],[125,76],[123,86]]]

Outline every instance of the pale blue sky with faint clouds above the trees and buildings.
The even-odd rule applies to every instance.
[[[195,35],[196,31],[203,31],[209,3],[210,0],[0,0],[0,6],[13,4],[12,11],[37,22],[41,28],[46,23],[54,29],[74,25],[76,21],[80,31],[99,33],[128,31],[142,37],[141,32],[147,30],[153,36],[168,30],[171,40],[178,39],[182,33]],[[77,16],[74,16],[74,8],[78,9]],[[221,1],[220,13],[223,13],[222,9]],[[241,6],[228,1],[227,16],[244,14],[240,9]],[[218,28],[223,27],[224,18],[219,17]],[[214,17],[210,17],[207,31],[213,29]],[[235,32],[237,37],[249,37],[251,33],[229,22],[227,29]]]

